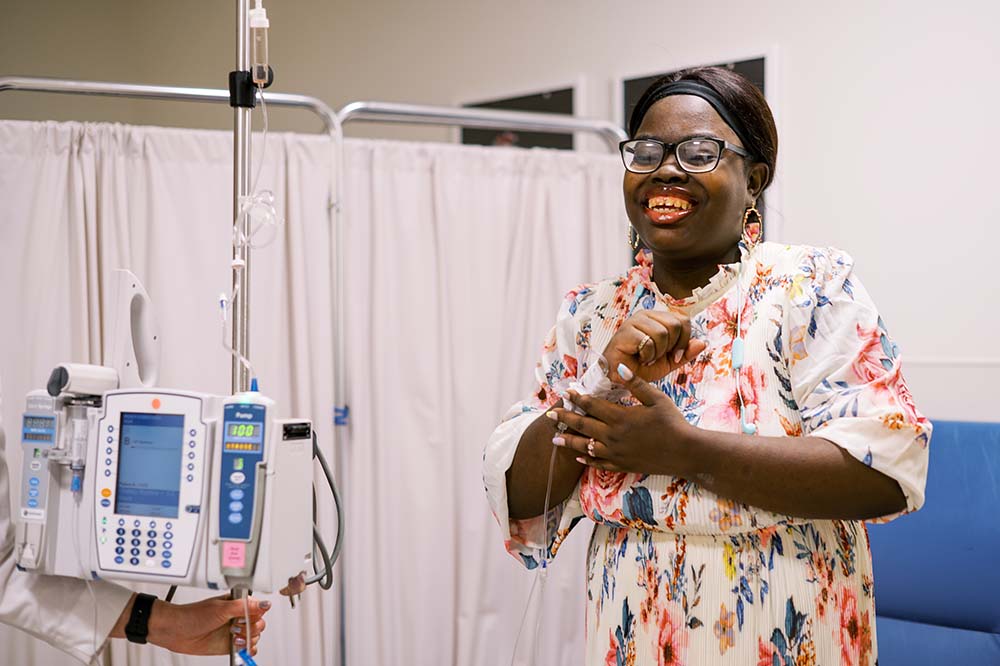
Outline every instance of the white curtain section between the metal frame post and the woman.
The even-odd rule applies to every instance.
[[[347,663],[506,666],[533,574],[503,549],[482,449],[531,390],[565,291],[628,265],[621,164],[386,142],[347,164]],[[539,666],[582,663],[578,532]]]

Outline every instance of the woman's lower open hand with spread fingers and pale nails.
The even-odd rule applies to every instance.
[[[586,416],[565,409],[548,415],[582,436],[557,434],[553,444],[576,451],[586,465],[610,472],[683,475],[688,458],[683,442],[694,426],[663,392],[624,366],[618,372],[641,404],[623,407],[570,391],[573,404]]]

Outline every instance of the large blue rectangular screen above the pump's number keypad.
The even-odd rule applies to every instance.
[[[183,414],[122,412],[115,513],[176,518]]]

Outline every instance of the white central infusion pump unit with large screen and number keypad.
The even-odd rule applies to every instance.
[[[99,576],[198,583],[214,435],[209,400],[182,391],[105,395],[91,457]]]

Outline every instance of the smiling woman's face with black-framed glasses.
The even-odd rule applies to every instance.
[[[743,145],[715,109],[694,95],[655,103],[633,138],[673,144],[693,137]],[[722,151],[713,171],[689,174],[671,151],[653,173],[625,172],[625,210],[654,254],[719,262],[739,241],[743,213],[763,189],[766,174],[765,165],[751,165],[730,150]]]

